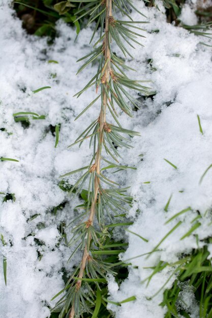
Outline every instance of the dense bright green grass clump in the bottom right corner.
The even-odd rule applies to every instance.
[[[188,291],[199,304],[199,317],[212,316],[212,266],[211,259],[208,259],[209,254],[204,246],[193,250],[190,255],[181,256],[177,278],[172,287],[164,291],[163,302],[160,304],[167,308],[165,318],[191,318],[193,308],[183,299],[183,294]]]

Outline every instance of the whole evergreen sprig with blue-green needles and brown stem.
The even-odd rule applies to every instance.
[[[75,140],[75,144],[82,145],[84,140],[90,140],[90,147],[93,147],[93,155],[87,166],[69,172],[62,177],[79,173],[80,176],[70,189],[74,196],[79,195],[82,190],[86,194],[85,212],[77,220],[74,220],[72,238],[69,242],[74,246],[71,257],[79,250],[82,250],[82,259],[79,266],[68,280],[63,292],[63,297],[56,303],[53,310],[60,311],[59,318],[78,318],[83,312],[94,313],[92,307],[97,299],[99,302],[100,291],[104,290],[108,273],[114,274],[113,262],[118,261],[117,256],[125,249],[120,249],[126,244],[114,244],[112,231],[116,226],[130,225],[130,222],[112,223],[113,217],[125,216],[132,204],[132,198],[127,194],[128,188],[121,188],[119,184],[108,178],[105,174],[108,169],[122,171],[135,169],[133,167],[119,165],[118,149],[131,148],[131,138],[139,133],[124,129],[119,123],[116,108],[132,116],[131,107],[138,107],[138,101],[131,94],[136,90],[144,95],[148,94],[148,87],[143,86],[143,81],[130,79],[125,70],[130,68],[125,65],[124,59],[118,57],[112,51],[111,44],[115,44],[123,52],[124,56],[133,57],[129,52],[132,43],[142,45],[139,38],[143,37],[143,31],[138,25],[143,21],[133,21],[130,17],[131,8],[138,11],[131,0],[72,0],[69,2],[80,3],[76,13],[77,20],[89,15],[88,24],[96,21],[96,27],[92,35],[93,41],[98,33],[99,39],[94,44],[92,52],[79,59],[85,60],[78,73],[94,61],[98,62],[96,75],[80,90],[76,96],[79,97],[88,88],[95,86],[98,94],[77,117],[84,114],[101,99],[100,113],[96,120],[88,125],[82,134]],[[118,10],[128,20],[115,20],[113,12]],[[138,11],[139,12],[139,11]],[[140,12],[139,12],[140,13]],[[142,13],[140,13],[142,15]],[[128,46],[128,47],[127,47]],[[114,123],[106,121],[106,113],[109,112]],[[104,156],[103,156],[104,150]],[[108,160],[108,156],[111,160]],[[105,165],[102,166],[102,163]],[[84,189],[87,185],[87,190]],[[76,222],[78,221],[78,223]],[[115,256],[115,257],[114,257]],[[102,287],[103,286],[103,287]],[[104,294],[105,295],[105,294]],[[56,297],[55,296],[55,297]],[[131,298],[130,298],[131,299]],[[135,297],[132,297],[134,300]],[[105,302],[102,298],[102,301]],[[128,300],[130,301],[130,300]],[[95,317],[97,316],[95,307]]]

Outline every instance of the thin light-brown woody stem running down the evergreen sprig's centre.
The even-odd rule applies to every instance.
[[[90,226],[93,225],[94,222],[94,217],[95,217],[95,212],[96,212],[96,205],[97,205],[97,200],[98,200],[98,194],[99,194],[99,185],[100,185],[100,179],[98,175],[100,174],[100,163],[101,163],[101,153],[102,153],[102,144],[104,140],[104,130],[105,130],[105,123],[106,123],[106,108],[107,108],[107,94],[105,89],[107,89],[107,83],[109,82],[110,79],[110,49],[109,49],[109,22],[110,19],[112,18],[112,0],[106,0],[106,17],[105,17],[105,37],[104,37],[104,56],[105,56],[105,63],[106,67],[104,70],[104,81],[102,80],[102,105],[101,105],[101,110],[99,114],[99,144],[97,148],[97,153],[96,153],[96,158],[95,158],[95,163],[92,166],[93,169],[96,170],[97,174],[95,176],[95,193],[94,197],[92,199],[92,204],[90,207],[90,214],[89,218],[86,222],[86,227],[89,228]],[[102,78],[103,78],[102,77]],[[78,291],[81,287],[82,280],[81,278],[83,277],[84,274],[84,269],[86,266],[86,262],[89,257],[89,249],[88,247],[90,246],[90,240],[91,240],[91,235],[88,235],[87,237],[87,243],[85,244],[82,260],[81,260],[81,266],[78,274],[79,280],[76,282],[76,291]],[[69,318],[74,318],[75,315],[75,309],[74,309],[74,304],[72,305]]]

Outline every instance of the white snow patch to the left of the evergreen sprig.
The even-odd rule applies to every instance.
[[[48,46],[46,39],[26,36],[8,4],[10,1],[0,5],[0,128],[5,129],[0,131],[0,143],[1,156],[19,162],[1,162],[0,167],[0,192],[14,193],[16,197],[15,202],[0,203],[0,233],[6,242],[5,246],[1,244],[1,264],[3,256],[7,258],[7,287],[0,266],[0,295],[4,295],[0,298],[0,316],[46,318],[49,306],[56,301],[51,298],[64,287],[62,268],[70,272],[80,257],[67,263],[72,249],[59,244],[60,224],[69,224],[75,216],[73,208],[79,203],[67,197],[58,182],[59,175],[81,167],[88,156],[77,148],[67,150],[67,146],[81,133],[83,125],[74,123],[74,117],[92,98],[90,93],[79,103],[72,97],[90,76],[88,70],[80,84],[75,80],[76,60],[87,54],[89,47],[82,41],[74,44],[75,31],[62,23],[57,26],[60,37],[53,46]],[[88,41],[90,33],[89,29],[83,30],[81,36]],[[48,60],[57,60],[58,64]],[[43,86],[51,89],[32,92]],[[36,112],[46,118],[33,120],[29,115],[30,125],[23,128],[13,117],[20,111]],[[57,123],[61,123],[61,129],[54,148],[55,136],[49,125]],[[51,211],[60,203],[65,207],[58,209],[55,216]]]

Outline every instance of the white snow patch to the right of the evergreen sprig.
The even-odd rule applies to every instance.
[[[136,296],[137,300],[122,306],[110,305],[116,318],[130,315],[135,318],[162,318],[166,310],[159,304],[163,300],[164,289],[153,296],[173,270],[168,268],[159,272],[146,287],[144,280],[152,273],[146,267],[156,266],[160,260],[173,263],[181,253],[189,253],[193,248],[203,246],[201,241],[197,246],[195,235],[180,240],[191,229],[191,221],[198,215],[196,211],[202,218],[201,226],[194,233],[199,240],[211,235],[210,216],[209,213],[205,215],[212,204],[211,171],[199,183],[211,164],[211,50],[201,46],[198,37],[167,24],[163,12],[155,8],[147,10],[145,7],[142,12],[149,18],[148,30],[160,31],[147,35],[142,53],[136,48],[136,59],[131,65],[138,69],[141,58],[152,60],[150,79],[157,93],[153,101],[149,99],[146,108],[149,113],[158,110],[159,114],[157,117],[154,114],[146,116],[146,108],[143,108],[134,119],[134,129],[140,132],[141,138],[134,140],[134,149],[128,152],[128,161],[137,167],[136,171],[128,172],[131,194],[135,199],[130,215],[136,217],[138,210],[140,213],[129,230],[147,239],[148,243],[129,234],[129,248],[123,259],[135,259],[131,260],[129,277],[120,285],[119,291],[111,293],[111,299],[121,301]],[[184,17],[184,23],[191,23],[189,14]],[[133,19],[137,18],[135,14]],[[138,73],[144,77],[143,74],[147,72],[145,65],[139,65]],[[203,135],[199,131],[197,115]],[[139,154],[143,154],[142,161]],[[146,181],[150,183],[144,183]],[[168,211],[165,212],[170,196]],[[188,207],[191,207],[190,211],[165,224],[171,216]],[[182,224],[162,242],[160,251],[148,258],[136,258],[152,251],[178,221],[182,221]],[[211,252],[210,247],[208,250]],[[173,276],[165,287],[170,288],[174,279]],[[184,296],[191,302],[194,297],[191,290],[185,291]],[[197,306],[193,305],[191,309],[192,317],[197,318]]]

